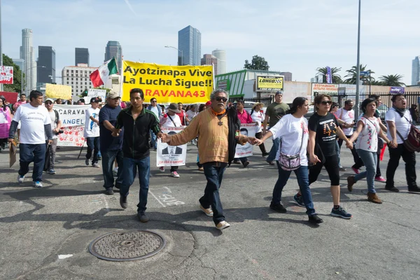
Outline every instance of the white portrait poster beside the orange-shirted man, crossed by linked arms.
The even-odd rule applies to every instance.
[[[184,127],[162,127],[162,132],[169,135],[183,131]],[[158,153],[156,153],[156,166],[181,166],[186,165],[187,144],[169,146],[158,139]]]

